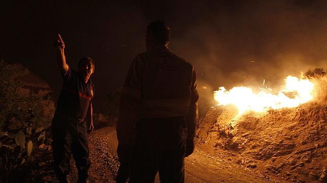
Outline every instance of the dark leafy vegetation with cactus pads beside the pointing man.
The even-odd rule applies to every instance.
[[[22,181],[31,177],[31,156],[36,150],[51,150],[51,139],[46,138],[53,111],[44,108],[50,98],[35,94],[21,95],[23,81],[29,71],[19,64],[0,60],[0,178],[1,182]],[[17,179],[18,178],[18,179]]]

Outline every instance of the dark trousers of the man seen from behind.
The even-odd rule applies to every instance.
[[[184,117],[145,118],[136,125],[130,182],[184,182]]]

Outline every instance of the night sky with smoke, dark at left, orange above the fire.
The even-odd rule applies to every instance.
[[[247,76],[278,87],[289,74],[327,68],[326,1],[131,2],[2,1],[0,58],[22,63],[57,97],[61,77],[52,42],[60,33],[72,68],[82,57],[95,61],[95,110],[104,108],[109,89],[123,85],[154,20],[171,27],[170,49],[193,64],[203,98],[211,99],[218,86],[244,84]]]

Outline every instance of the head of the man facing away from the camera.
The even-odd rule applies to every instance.
[[[162,20],[150,23],[146,30],[146,47],[151,49],[156,45],[168,45],[170,39],[170,28]]]

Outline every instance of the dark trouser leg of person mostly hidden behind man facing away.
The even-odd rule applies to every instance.
[[[119,143],[117,147],[117,155],[119,159],[119,169],[117,172],[116,182],[124,183],[127,181],[130,174],[130,155],[132,153],[132,146],[128,144]]]

